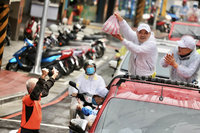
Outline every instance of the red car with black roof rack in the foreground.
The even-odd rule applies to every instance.
[[[198,86],[119,75],[108,89],[90,133],[200,133]]]

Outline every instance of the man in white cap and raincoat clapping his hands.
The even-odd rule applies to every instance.
[[[200,63],[196,42],[193,37],[185,35],[177,43],[178,46],[161,59],[161,65],[171,66],[170,78],[172,80],[196,82]]]

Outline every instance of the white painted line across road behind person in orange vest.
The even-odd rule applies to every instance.
[[[8,121],[8,122],[21,123],[21,120],[14,120],[14,119],[2,119],[2,118],[0,118],[0,121]],[[53,125],[53,124],[41,123],[40,125],[41,126],[45,126],[45,127],[54,127],[54,128],[60,128],[60,129],[69,129],[69,127],[67,127],[67,126],[60,126],[60,125]]]

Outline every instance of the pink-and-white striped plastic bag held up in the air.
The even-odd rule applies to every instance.
[[[103,24],[102,30],[111,35],[119,34],[119,23],[115,15],[108,18],[108,20]]]

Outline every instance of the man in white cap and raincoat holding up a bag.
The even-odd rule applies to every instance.
[[[157,47],[154,34],[148,24],[140,24],[137,31],[133,31],[127,22],[115,13],[119,21],[121,34],[113,35],[131,52],[128,71],[132,75],[152,76],[157,61]]]

